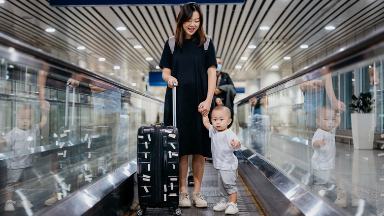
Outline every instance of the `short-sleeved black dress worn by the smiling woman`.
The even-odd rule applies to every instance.
[[[211,139],[198,112],[198,105],[207,98],[207,69],[213,65],[217,66],[216,51],[212,40],[209,42],[207,51],[204,50],[203,45],[199,47],[197,45],[192,39],[188,39],[182,49],[175,45],[174,52],[171,54],[167,40],[159,66],[170,69],[171,75],[178,81],[176,124],[179,130],[180,156],[201,154],[204,157],[212,157]],[[212,101],[211,110],[214,107]],[[172,89],[167,87],[164,100],[164,123],[172,125],[172,121]]]

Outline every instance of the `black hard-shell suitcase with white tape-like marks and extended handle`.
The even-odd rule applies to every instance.
[[[175,85],[175,84],[174,84]],[[175,85],[176,86],[176,85]],[[173,88],[173,124],[176,121],[176,87]],[[141,216],[149,208],[179,206],[179,132],[176,126],[142,126],[137,131],[137,185]]]

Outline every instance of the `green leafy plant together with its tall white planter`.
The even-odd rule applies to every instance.
[[[358,97],[352,95],[349,107],[355,111],[351,113],[352,138],[354,149],[372,149],[375,135],[375,115],[370,113],[373,108],[372,94],[360,93]]]

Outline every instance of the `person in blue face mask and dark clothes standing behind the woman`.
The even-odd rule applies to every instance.
[[[223,61],[220,57],[216,57],[216,89],[214,95],[215,106],[224,105],[231,111],[231,118],[233,119],[233,100],[236,96],[236,89],[233,85],[228,73],[222,72]],[[229,124],[230,128],[232,122]]]

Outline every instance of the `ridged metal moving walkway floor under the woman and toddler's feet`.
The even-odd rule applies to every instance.
[[[237,193],[237,208],[239,213],[236,216],[269,216],[254,192],[248,187],[247,182],[242,178],[239,172],[239,177],[236,181]],[[193,186],[187,186],[187,191],[192,194]],[[213,168],[212,161],[206,161],[205,171],[203,177],[203,184],[201,186],[201,193],[203,198],[207,201],[207,208],[197,208],[192,205],[191,208],[181,208],[181,216],[224,216],[223,212],[213,211],[216,203],[220,202],[219,187],[217,182],[216,170]],[[192,196],[191,196],[192,202]],[[128,212],[126,216],[135,216],[136,211],[139,209],[138,200],[133,203],[130,208],[133,211]],[[145,216],[173,216],[176,215],[172,208],[147,208]]]

